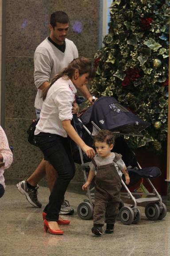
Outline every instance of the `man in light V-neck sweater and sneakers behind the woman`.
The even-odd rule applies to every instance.
[[[66,38],[69,32],[69,17],[65,12],[54,12],[50,16],[50,36],[42,41],[36,48],[34,54],[34,80],[37,87],[35,98],[35,111],[37,118],[42,108],[41,93],[46,88],[51,79],[62,69],[65,68],[73,59],[78,57],[77,47],[73,41]],[[84,85],[81,93],[92,103],[92,96]],[[77,104],[73,105],[73,113],[77,111]],[[27,180],[16,184],[19,192],[27,197],[27,200],[35,207],[41,207],[42,204],[37,198],[38,183],[45,176],[48,181],[50,191],[53,188],[57,178],[57,172],[48,161],[42,160],[36,170]],[[74,210],[70,207],[67,200],[63,201],[60,214],[73,214]]]

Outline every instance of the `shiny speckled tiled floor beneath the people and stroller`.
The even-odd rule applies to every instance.
[[[42,205],[48,201],[49,190],[39,188]],[[77,205],[86,196],[66,193],[75,209],[67,216],[69,226],[62,226],[63,236],[45,233],[42,209],[34,208],[14,185],[7,185],[0,199],[0,256],[168,256],[170,255],[170,212],[165,219],[147,220],[142,210],[139,224],[116,222],[114,234],[96,237],[91,233],[93,220],[81,220]],[[66,216],[64,216],[66,218]]]

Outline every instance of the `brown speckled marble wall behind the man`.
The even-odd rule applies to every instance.
[[[0,1],[1,2],[1,1]],[[27,128],[35,118],[33,55],[49,35],[50,14],[57,10],[70,17],[68,38],[77,45],[79,56],[93,57],[100,40],[100,0],[6,0],[5,3],[5,131],[13,146],[14,161],[6,170],[7,181],[28,177],[42,154],[27,142]],[[1,34],[0,34],[1,35]],[[81,180],[77,175],[75,180]]]

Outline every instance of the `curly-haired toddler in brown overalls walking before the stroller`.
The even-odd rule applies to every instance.
[[[89,175],[82,189],[86,190],[96,175],[92,232],[100,236],[103,232],[104,221],[106,222],[105,233],[113,233],[116,217],[119,213],[122,172],[126,184],[129,184],[130,178],[121,155],[111,152],[115,143],[112,132],[101,130],[94,136],[93,143],[97,155],[89,164]]]

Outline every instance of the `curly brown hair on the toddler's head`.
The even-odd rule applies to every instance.
[[[115,136],[112,132],[108,130],[100,130],[97,135],[94,136],[93,144],[95,145],[96,141],[106,142],[109,146],[115,144]]]

